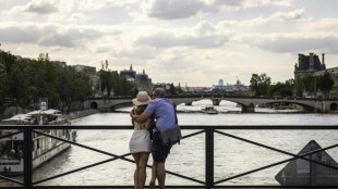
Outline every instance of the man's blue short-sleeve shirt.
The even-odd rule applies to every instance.
[[[170,128],[176,124],[174,108],[167,98],[156,98],[152,100],[145,111],[155,115],[158,130]]]

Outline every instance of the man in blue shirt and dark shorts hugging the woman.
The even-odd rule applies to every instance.
[[[166,159],[170,153],[170,148],[162,147],[159,139],[159,131],[172,127],[176,124],[176,113],[173,103],[165,98],[166,91],[162,88],[156,88],[153,91],[153,100],[141,114],[136,115],[131,112],[131,117],[136,122],[144,122],[152,115],[156,118],[156,128],[153,134],[152,141],[152,155],[153,155],[153,167],[152,167],[152,180],[149,184],[150,188],[155,188],[155,180],[158,179],[160,189],[165,188],[166,180]]]

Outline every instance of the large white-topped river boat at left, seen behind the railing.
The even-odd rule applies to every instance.
[[[52,113],[50,113],[52,112]],[[44,125],[49,124],[58,124],[64,123],[63,118],[60,117],[61,114],[57,114],[58,111],[50,111],[48,114],[46,112],[39,111],[38,116],[36,112],[28,114],[15,115],[9,119],[4,119],[4,122],[14,123],[17,125],[37,125],[37,118],[41,117],[39,124],[45,122],[41,125],[40,129],[36,129],[37,131],[58,137],[64,140],[71,140],[71,129],[44,129]],[[44,115],[45,116],[44,116]],[[51,118],[51,119],[50,119]],[[64,125],[64,124],[62,124]],[[1,128],[1,127],[0,127]],[[24,134],[19,133],[15,135],[10,135],[17,133],[15,129],[0,129],[1,136],[9,136],[0,139],[0,175],[3,176],[15,176],[22,175],[24,173],[24,160],[23,160],[23,144],[24,144]],[[57,140],[50,137],[46,137],[39,134],[33,134],[33,168],[38,167],[43,163],[51,160],[57,156],[61,152],[65,151],[71,147],[69,142],[64,142],[61,140]]]

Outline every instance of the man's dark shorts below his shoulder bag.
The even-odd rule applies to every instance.
[[[165,163],[168,154],[170,153],[170,149],[171,147],[169,148],[162,147],[159,138],[159,131],[155,131],[153,134],[153,142],[152,142],[152,155],[154,162]]]

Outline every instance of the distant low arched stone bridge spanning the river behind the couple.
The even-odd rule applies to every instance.
[[[167,96],[176,104],[185,103],[191,105],[194,101],[210,99],[214,105],[219,105],[220,101],[227,100],[238,103],[242,106],[242,112],[254,112],[255,106],[262,104],[292,103],[302,106],[312,112],[331,113],[337,112],[338,99],[305,99],[305,98],[269,98],[269,97],[249,97],[249,96],[219,96],[219,94],[184,94]],[[112,98],[89,98],[85,102],[85,108],[97,109],[102,112],[110,112],[117,108],[130,106],[132,97],[112,97]]]

